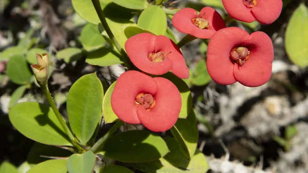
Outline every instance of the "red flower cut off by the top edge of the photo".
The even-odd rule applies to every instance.
[[[271,24],[282,10],[281,0],[222,0],[230,16],[243,22]]]

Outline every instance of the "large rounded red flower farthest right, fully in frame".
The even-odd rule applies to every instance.
[[[264,32],[249,35],[237,27],[217,31],[209,40],[206,68],[211,78],[223,85],[239,83],[256,87],[272,73],[274,48]]]

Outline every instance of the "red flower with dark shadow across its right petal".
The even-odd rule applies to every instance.
[[[199,15],[192,8],[184,8],[172,17],[172,24],[178,31],[201,39],[209,39],[216,31],[226,27],[223,18],[211,7],[204,7]]]

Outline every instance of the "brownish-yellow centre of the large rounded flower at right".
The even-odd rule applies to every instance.
[[[242,66],[249,59],[249,50],[245,47],[233,48],[230,51],[230,60],[233,63],[237,63],[239,66]]]

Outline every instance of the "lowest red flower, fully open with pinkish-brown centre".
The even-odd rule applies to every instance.
[[[141,123],[152,131],[166,131],[175,125],[181,105],[175,84],[133,70],[120,75],[111,94],[112,109],[120,120]]]

